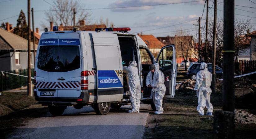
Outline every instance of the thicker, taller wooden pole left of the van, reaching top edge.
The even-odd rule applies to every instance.
[[[32,96],[31,89],[31,54],[30,54],[31,30],[30,30],[30,0],[28,0],[28,95]]]

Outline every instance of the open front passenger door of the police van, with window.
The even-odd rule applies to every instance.
[[[157,58],[156,63],[159,63],[160,70],[164,73],[166,87],[164,98],[173,98],[175,95],[175,83],[177,76],[176,53],[174,45],[164,46]]]

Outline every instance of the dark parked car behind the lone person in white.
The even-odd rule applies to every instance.
[[[195,81],[195,77],[196,77],[196,74],[197,72],[200,70],[200,65],[201,63],[195,63],[195,64],[192,64],[189,68],[188,68],[188,71],[187,71],[187,76],[194,80]],[[208,71],[213,73],[213,70],[212,70],[212,63],[207,63],[207,68],[208,68]],[[218,67],[216,65],[215,67],[215,73],[216,73],[216,77],[217,78],[222,78],[222,73],[223,73],[223,70],[222,68]]]

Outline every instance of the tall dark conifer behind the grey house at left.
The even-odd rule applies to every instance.
[[[26,22],[26,16],[22,10],[20,11],[20,16],[17,19],[17,25],[13,33],[25,39],[28,38],[28,25]]]

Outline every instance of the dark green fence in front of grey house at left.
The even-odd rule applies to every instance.
[[[24,70],[20,69],[20,70],[6,71],[6,72],[28,76],[28,69],[24,69]],[[19,88],[21,86],[27,86],[27,83],[28,83],[27,77],[22,77],[22,76],[7,74],[7,73],[4,73],[4,75],[2,73],[0,74],[1,74],[0,91],[6,91],[6,90]],[[34,69],[31,69],[31,77],[34,77]],[[32,80],[32,82],[34,83],[34,80]]]

